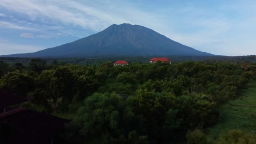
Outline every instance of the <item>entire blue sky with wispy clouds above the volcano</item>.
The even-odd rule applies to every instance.
[[[256,54],[256,1],[209,1],[0,0],[0,55],[55,47],[122,23],[199,51]]]

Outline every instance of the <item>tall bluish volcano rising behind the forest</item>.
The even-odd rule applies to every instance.
[[[214,56],[177,43],[139,25],[113,24],[103,31],[35,53],[1,57]]]

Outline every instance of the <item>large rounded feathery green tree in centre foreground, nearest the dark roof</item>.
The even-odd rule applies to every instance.
[[[133,117],[131,105],[116,93],[95,93],[85,99],[74,121],[81,125],[81,134],[97,137],[105,133],[117,138],[128,133]]]

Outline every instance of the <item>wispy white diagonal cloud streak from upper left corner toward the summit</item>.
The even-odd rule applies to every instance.
[[[62,2],[63,3],[63,2]],[[64,2],[66,3],[66,2]],[[55,5],[54,2],[46,1],[40,3],[34,0],[3,0],[0,5],[11,11],[27,14],[32,19],[43,19],[43,17],[50,18],[51,21],[60,21],[67,24],[75,24],[81,27],[96,28],[101,24],[95,22],[91,23],[91,18],[82,13],[72,12]],[[95,21],[95,20],[93,20]]]

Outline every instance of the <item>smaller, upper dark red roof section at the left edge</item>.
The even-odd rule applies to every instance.
[[[19,96],[0,88],[0,108],[21,104],[28,101],[26,96]]]

